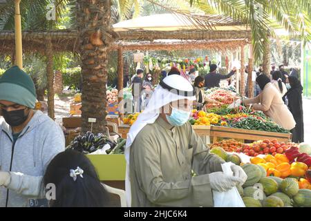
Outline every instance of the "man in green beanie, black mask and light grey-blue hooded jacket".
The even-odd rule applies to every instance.
[[[65,137],[48,115],[35,111],[35,84],[18,66],[0,78],[0,206],[30,206],[44,198],[42,178]],[[44,203],[43,203],[44,204]]]

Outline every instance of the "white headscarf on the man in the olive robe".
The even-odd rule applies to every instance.
[[[171,86],[172,88],[176,88],[177,90],[183,90],[187,92],[193,91],[193,87],[189,81],[180,75],[167,76],[163,79],[163,81],[165,84]],[[158,119],[160,115],[160,108],[162,108],[162,106],[165,106],[170,102],[175,102],[179,99],[189,99],[190,101],[194,101],[196,100],[196,97],[178,95],[158,85],[156,90],[154,90],[147,108],[140,115],[138,115],[138,119],[131,126],[129,133],[127,134],[126,147],[124,151],[126,160],[125,190],[127,206],[131,206],[131,180],[129,177],[130,147],[133,144],[135,137],[138,135],[138,133],[140,133],[144,126],[156,122],[156,119]]]

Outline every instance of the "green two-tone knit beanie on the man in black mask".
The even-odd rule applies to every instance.
[[[31,77],[18,66],[6,70],[0,77],[0,100],[35,108],[36,89]]]

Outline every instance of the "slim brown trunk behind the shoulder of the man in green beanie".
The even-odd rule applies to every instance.
[[[46,75],[48,80],[48,116],[52,119],[55,119],[54,113],[54,74],[53,74],[53,48],[52,41],[46,39]]]

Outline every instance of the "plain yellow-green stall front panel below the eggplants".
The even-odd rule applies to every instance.
[[[91,160],[101,181],[125,180],[124,154],[86,155]]]

